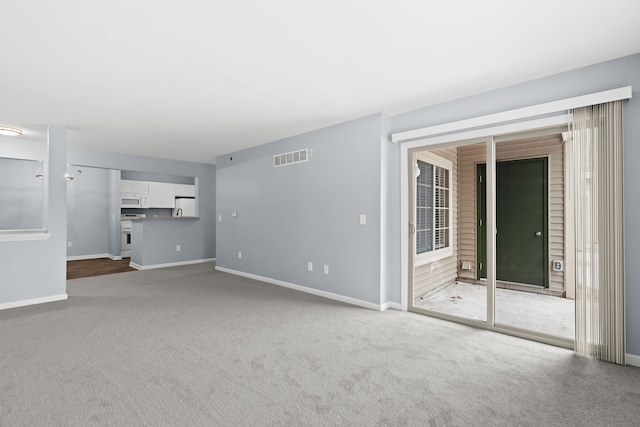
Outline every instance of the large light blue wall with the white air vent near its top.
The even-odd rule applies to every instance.
[[[380,304],[381,127],[374,115],[218,157],[217,265]],[[304,148],[308,162],[273,167]]]

